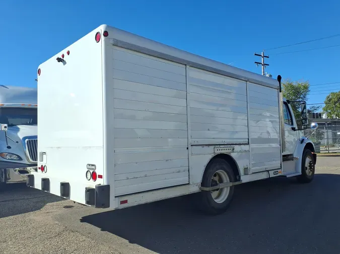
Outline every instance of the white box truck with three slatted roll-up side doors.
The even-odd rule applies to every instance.
[[[107,25],[38,67],[38,136],[38,172],[27,185],[111,209],[197,192],[218,214],[235,185],[277,176],[307,183],[316,163],[280,76]]]

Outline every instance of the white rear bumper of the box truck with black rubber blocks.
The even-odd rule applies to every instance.
[[[39,172],[27,175],[26,184],[28,187],[46,191],[84,205],[96,208],[110,207],[110,185],[88,186],[79,182],[62,182],[54,178],[50,179],[48,175]]]

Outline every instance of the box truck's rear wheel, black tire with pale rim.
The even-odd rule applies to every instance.
[[[211,187],[216,184],[216,180],[218,180],[218,183],[223,183],[235,182],[235,179],[236,177],[230,164],[223,159],[216,158],[207,165],[201,186]],[[230,205],[234,195],[234,186],[215,191],[201,191],[197,194],[200,209],[208,214],[217,215],[224,213]]]

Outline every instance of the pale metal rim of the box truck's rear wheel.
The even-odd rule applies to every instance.
[[[229,183],[229,176],[224,170],[218,170],[213,175],[210,186],[216,186],[221,183]],[[229,196],[230,187],[221,188],[211,191],[211,195],[216,203],[223,203]]]

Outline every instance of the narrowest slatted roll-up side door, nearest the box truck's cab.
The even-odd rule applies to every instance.
[[[281,168],[278,90],[247,85],[251,172]]]

